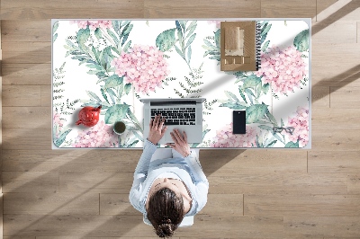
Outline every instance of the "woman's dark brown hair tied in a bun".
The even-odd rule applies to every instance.
[[[159,237],[174,235],[184,219],[184,200],[173,190],[162,188],[148,199],[148,220]]]

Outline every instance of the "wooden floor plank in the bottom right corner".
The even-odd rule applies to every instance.
[[[284,217],[285,235],[323,235],[324,237],[358,237],[360,217]]]

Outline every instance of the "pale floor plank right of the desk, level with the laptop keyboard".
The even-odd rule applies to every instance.
[[[311,112],[311,125],[314,128],[343,128],[360,129],[358,119],[360,111],[347,107],[342,108],[316,108]]]

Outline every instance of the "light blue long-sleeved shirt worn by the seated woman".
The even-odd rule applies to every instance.
[[[154,160],[150,163],[151,156],[157,150],[157,146],[145,140],[144,150],[140,156],[139,163],[134,173],[134,181],[130,190],[130,203],[146,215],[146,200],[148,190],[157,176],[161,173],[175,173],[186,187],[190,190],[193,199],[192,206],[185,216],[197,214],[206,204],[208,198],[209,181],[202,172],[202,166],[196,152],[186,157],[175,157],[169,159]]]

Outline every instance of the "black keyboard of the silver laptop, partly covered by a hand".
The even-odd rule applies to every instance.
[[[151,109],[151,119],[161,115],[165,125],[195,125],[195,108]]]

